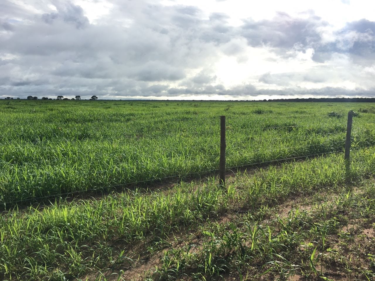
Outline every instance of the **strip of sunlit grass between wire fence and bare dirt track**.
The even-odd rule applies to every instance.
[[[375,149],[353,151],[350,172],[342,155],[282,164],[239,176],[226,190],[214,179],[151,194],[128,191],[101,200],[55,203],[13,211],[0,219],[0,277],[4,280],[72,280],[92,270],[132,266],[127,245],[162,241],[233,209],[257,213],[291,193],[309,193],[360,182],[375,173]],[[121,254],[122,253],[122,254]]]

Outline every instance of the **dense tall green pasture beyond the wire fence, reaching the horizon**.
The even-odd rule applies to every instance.
[[[0,204],[217,169],[220,115],[228,167],[340,151],[357,108],[366,104],[0,101]],[[372,117],[354,118],[354,147],[375,143]]]

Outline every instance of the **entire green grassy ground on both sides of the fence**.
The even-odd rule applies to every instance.
[[[0,100],[0,279],[372,280],[373,106]]]

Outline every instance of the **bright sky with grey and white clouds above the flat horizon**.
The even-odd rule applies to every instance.
[[[375,97],[373,0],[1,0],[0,97]]]

